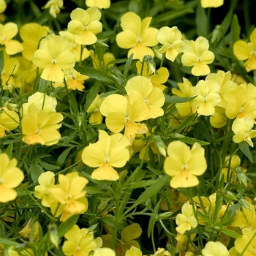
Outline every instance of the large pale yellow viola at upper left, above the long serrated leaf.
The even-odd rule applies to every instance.
[[[62,82],[63,70],[69,70],[75,66],[75,54],[70,50],[67,37],[50,34],[41,40],[32,61],[37,67],[43,69],[41,78]]]

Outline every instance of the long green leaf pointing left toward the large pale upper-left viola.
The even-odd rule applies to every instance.
[[[89,78],[94,78],[106,83],[115,83],[115,80],[113,80],[107,73],[94,69],[93,67],[75,66],[74,69],[82,75],[89,76]]]

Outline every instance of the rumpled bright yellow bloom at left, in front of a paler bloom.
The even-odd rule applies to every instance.
[[[44,110],[37,111],[34,103],[29,105],[27,115],[21,120],[23,142],[31,145],[40,143],[51,146],[59,142],[61,135],[57,129],[63,120],[61,113],[48,115]]]

